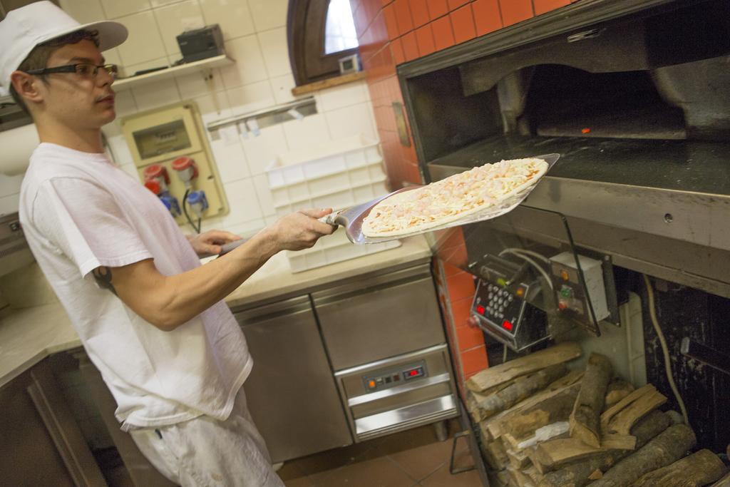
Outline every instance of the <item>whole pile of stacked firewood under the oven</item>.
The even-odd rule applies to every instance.
[[[479,424],[482,453],[498,486],[730,487],[710,450],[687,455],[692,429],[650,384],[613,379],[610,361],[564,342],[490,367],[466,381],[467,407]],[[722,479],[721,479],[722,478]]]

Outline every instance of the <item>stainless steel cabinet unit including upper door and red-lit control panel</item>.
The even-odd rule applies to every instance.
[[[312,299],[356,441],[458,415],[429,264]]]

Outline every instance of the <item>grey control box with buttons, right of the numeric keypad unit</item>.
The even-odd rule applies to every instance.
[[[580,285],[580,275],[575,264],[574,254],[564,252],[550,258],[550,271],[555,284],[558,310],[573,313],[577,315],[576,318],[584,321],[590,320],[591,312],[588,310],[588,299],[590,299],[596,321],[608,318],[610,312],[601,261],[581,255],[577,255],[577,258],[580,270],[583,272],[588,296],[585,296],[583,286]]]

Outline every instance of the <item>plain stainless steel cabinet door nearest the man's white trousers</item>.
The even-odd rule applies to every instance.
[[[248,407],[274,463],[350,445],[347,426],[308,296],[236,313],[253,371]]]

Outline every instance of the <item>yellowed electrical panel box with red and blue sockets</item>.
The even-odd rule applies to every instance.
[[[228,203],[196,104],[183,101],[121,120],[139,180],[157,194],[178,224],[225,215]],[[188,195],[187,201],[185,196]]]

